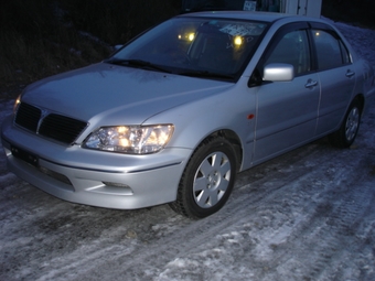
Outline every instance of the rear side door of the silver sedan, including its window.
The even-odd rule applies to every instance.
[[[340,126],[354,91],[356,74],[346,46],[330,26],[312,24],[312,41],[322,88],[317,134],[322,136]]]

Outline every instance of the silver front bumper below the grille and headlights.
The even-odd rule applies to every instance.
[[[191,154],[188,149],[126,155],[66,148],[14,127],[11,118],[2,126],[2,145],[9,171],[32,185],[68,202],[118,209],[175,201]],[[14,156],[14,147],[38,158],[38,164]]]

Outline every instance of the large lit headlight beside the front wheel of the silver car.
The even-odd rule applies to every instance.
[[[173,125],[103,127],[84,141],[83,148],[129,154],[160,151],[173,133]]]

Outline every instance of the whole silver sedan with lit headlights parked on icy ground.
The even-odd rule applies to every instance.
[[[374,97],[373,68],[323,20],[201,12],[30,85],[1,138],[9,170],[60,198],[202,218],[237,172],[323,136],[350,147]]]

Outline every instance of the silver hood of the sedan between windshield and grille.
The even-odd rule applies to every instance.
[[[25,89],[22,101],[85,121],[137,125],[231,86],[99,63],[34,83]]]

